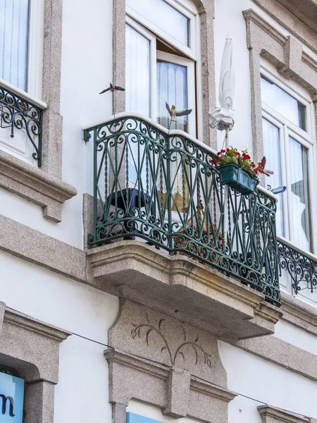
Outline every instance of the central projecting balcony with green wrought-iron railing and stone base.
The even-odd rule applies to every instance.
[[[152,294],[166,295],[166,300],[173,295],[180,305],[177,293],[162,293],[153,282],[155,262],[164,262],[162,266],[169,266],[172,273],[172,267],[182,267],[183,279],[177,283],[183,286],[193,269],[186,271],[190,262],[198,269],[193,278],[201,278],[200,283],[212,279],[217,292],[228,296],[221,300],[225,306],[218,309],[219,315],[235,308],[247,325],[256,314],[261,329],[240,325],[238,337],[272,333],[279,313],[268,303],[280,305],[275,197],[261,189],[241,195],[222,185],[211,148],[180,130],[168,132],[144,116],[119,114],[116,120],[84,128],[84,139],[94,145],[94,216],[88,252],[94,278],[112,286],[125,283],[142,290],[151,286]],[[140,255],[145,255],[153,263],[152,273],[140,271],[137,264],[133,273],[129,264],[129,278],[133,245],[139,249],[134,259],[142,261]],[[119,259],[123,251],[126,262]],[[111,266],[116,259],[121,267],[115,269]],[[163,276],[159,278],[162,282]],[[172,279],[169,274],[166,283],[173,285]],[[190,307],[196,301],[195,310],[201,314],[199,307],[208,303],[203,297],[209,296],[211,302],[204,307],[210,312],[212,303],[216,310],[215,298],[201,289],[197,288],[200,304],[187,288],[181,305]],[[232,305],[235,301],[240,304]],[[247,302],[250,309],[245,308]],[[267,321],[259,323],[260,315],[270,321],[269,328]]]

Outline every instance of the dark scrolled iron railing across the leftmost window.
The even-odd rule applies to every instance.
[[[27,139],[35,149],[32,153],[37,165],[42,164],[43,111],[18,94],[0,87],[0,127],[10,128],[11,138],[15,130],[25,130]]]

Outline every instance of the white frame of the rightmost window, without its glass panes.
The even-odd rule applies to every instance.
[[[280,163],[281,168],[281,183],[282,185],[287,186],[287,190],[282,194],[283,202],[283,223],[284,223],[284,234],[285,237],[279,236],[280,240],[285,241],[285,243],[290,244],[294,247],[294,250],[303,252],[304,255],[309,257],[314,257],[317,260],[317,221],[313,219],[313,216],[316,216],[317,213],[317,202],[316,202],[316,168],[314,168],[313,163],[316,163],[316,123],[314,118],[314,107],[309,94],[301,87],[297,82],[292,80],[285,80],[282,78],[282,75],[278,73],[275,67],[268,63],[267,61],[261,59],[261,75],[275,83],[282,90],[290,94],[294,99],[297,99],[298,102],[303,104],[306,107],[306,131],[302,128],[299,128],[294,123],[290,122],[284,116],[281,116],[277,111],[272,109],[268,104],[262,102],[262,116],[267,121],[275,125],[279,129],[280,135],[280,157],[282,158]],[[288,146],[289,146],[289,136],[294,138],[301,145],[306,147],[308,154],[308,173],[309,173],[309,229],[311,237],[311,252],[302,250],[292,241],[292,228],[290,226],[290,219],[292,219],[292,211],[289,209],[288,204],[290,204],[290,168],[285,166],[285,162],[288,156]],[[275,188],[275,187],[272,187]],[[287,275],[288,276],[288,275]],[[292,281],[290,277],[285,279],[285,284],[281,284],[281,288],[292,292]],[[310,294],[311,295],[311,294]],[[311,305],[316,307],[317,299],[308,298],[308,296],[299,293],[297,297],[308,302]]]

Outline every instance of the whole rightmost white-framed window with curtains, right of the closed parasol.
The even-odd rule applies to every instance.
[[[295,247],[313,251],[313,113],[309,94],[282,80],[271,67],[261,71],[263,149],[274,174],[266,185],[278,194],[277,233]]]

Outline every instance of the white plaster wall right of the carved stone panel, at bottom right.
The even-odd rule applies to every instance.
[[[317,417],[317,384],[311,379],[218,341],[228,388],[237,396],[229,404],[229,423],[261,423],[260,400],[290,412]]]

